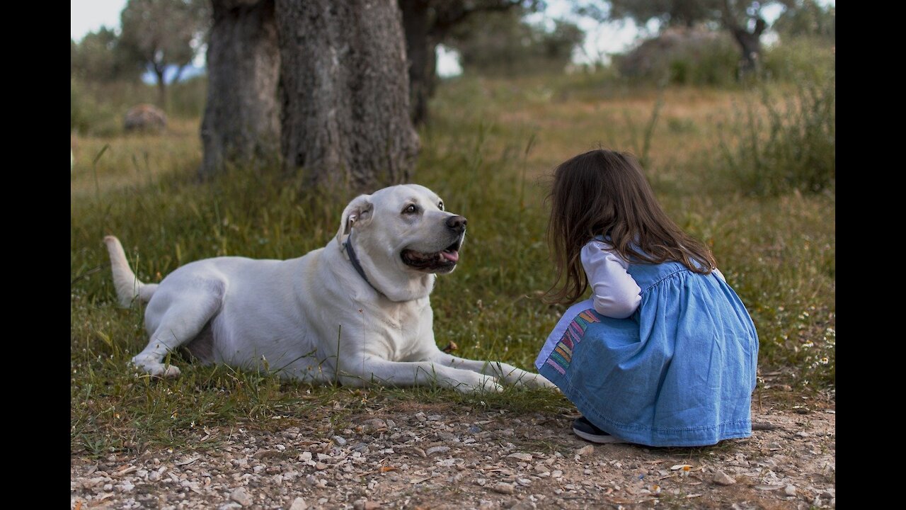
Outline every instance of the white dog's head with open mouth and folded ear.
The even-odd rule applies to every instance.
[[[402,184],[353,199],[343,210],[337,231],[341,248],[351,234],[368,279],[390,297],[393,290],[385,291],[382,284],[429,281],[430,291],[433,277],[426,277],[456,269],[466,237],[466,219],[446,211],[434,191],[418,184]]]

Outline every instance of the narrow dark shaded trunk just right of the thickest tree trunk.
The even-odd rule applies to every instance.
[[[400,0],[400,10],[409,60],[410,117],[420,125],[428,121],[428,100],[437,82],[438,43],[429,33],[428,0]]]

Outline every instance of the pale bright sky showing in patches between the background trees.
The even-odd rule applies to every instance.
[[[821,5],[836,5],[836,0],[818,0]],[[126,0],[70,0],[72,39],[79,41],[85,34],[107,26],[119,31],[120,12]],[[542,22],[546,19],[562,17],[573,21],[585,31],[585,41],[581,48],[573,54],[573,61],[577,64],[588,63],[594,60],[606,59],[606,54],[615,54],[625,51],[631,46],[639,35],[640,30],[632,22],[598,24],[588,18],[578,18],[570,13],[571,3],[568,0],[548,0],[544,13],[529,16],[532,22]],[[780,15],[780,5],[768,5],[762,14],[768,23],[773,23]],[[657,25],[649,24],[646,27],[653,32]],[[766,41],[769,43],[770,41]],[[204,54],[199,54],[196,62],[198,67],[204,66]],[[438,74],[450,76],[459,74],[457,55],[447,48],[440,47],[438,53]]]

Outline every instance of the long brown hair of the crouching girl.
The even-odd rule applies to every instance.
[[[660,208],[630,154],[597,149],[561,163],[547,200],[547,242],[556,267],[548,302],[568,304],[582,297],[588,280],[580,252],[597,235],[610,235],[613,250],[624,260],[676,260],[701,274],[717,267],[708,247],[680,230]]]

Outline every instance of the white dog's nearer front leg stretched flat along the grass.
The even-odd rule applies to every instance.
[[[341,363],[337,377],[344,386],[368,386],[373,383],[390,386],[450,387],[463,393],[502,391],[493,376],[472,370],[446,367],[430,361],[388,361],[381,358],[355,358]]]

